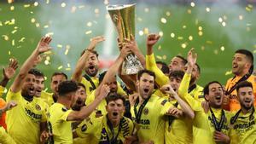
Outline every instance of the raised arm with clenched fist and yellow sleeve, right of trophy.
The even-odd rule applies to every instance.
[[[146,68],[155,73],[155,82],[160,86],[169,84],[169,78],[156,66],[154,60],[153,46],[158,42],[160,36],[157,34],[149,34],[147,38],[147,55]]]

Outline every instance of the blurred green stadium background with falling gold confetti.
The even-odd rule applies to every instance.
[[[40,37],[49,34],[53,37],[52,53],[38,65],[47,77],[47,88],[53,72],[67,72],[70,78],[91,37],[106,37],[107,40],[96,49],[101,66],[108,67],[119,54],[117,35],[106,10],[108,3],[137,3],[136,39],[143,54],[150,32],[162,35],[154,52],[156,60],[167,64],[174,55],[186,57],[188,50],[195,48],[201,66],[201,85],[211,80],[225,84],[232,77],[231,60],[236,49],[249,49],[255,56],[253,1],[41,0],[7,3],[1,0],[0,66],[6,66],[12,57],[22,64]]]

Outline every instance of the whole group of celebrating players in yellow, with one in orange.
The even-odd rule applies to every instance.
[[[51,37],[42,37],[16,76],[17,60],[3,69],[0,144],[256,143],[253,54],[236,50],[234,77],[224,86],[212,76],[201,87],[195,50],[187,58],[173,57],[168,66],[154,59],[159,39],[148,35],[146,56],[134,37],[118,40],[119,56],[108,71],[99,72],[96,45],[105,38],[94,37],[71,78],[64,72],[52,74],[49,93],[44,73],[35,68],[51,49]],[[143,70],[124,75],[122,64],[131,53]]]

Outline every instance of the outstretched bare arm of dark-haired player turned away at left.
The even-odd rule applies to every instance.
[[[110,89],[108,85],[102,85],[97,98],[89,106],[82,107],[80,111],[70,112],[67,116],[67,121],[81,121],[84,120],[84,118],[89,117],[90,113],[96,109],[101,101],[108,95],[109,91]]]

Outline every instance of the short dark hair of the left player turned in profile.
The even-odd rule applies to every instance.
[[[75,92],[79,89],[78,84],[72,80],[61,82],[58,86],[58,94],[60,96],[67,95],[68,93]]]

